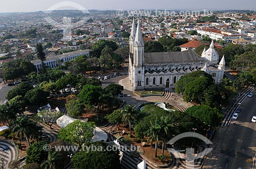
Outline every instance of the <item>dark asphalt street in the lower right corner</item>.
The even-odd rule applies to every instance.
[[[237,121],[232,120],[228,127],[218,131],[214,142],[216,154],[211,156],[213,168],[252,168],[256,153],[256,123],[251,122],[251,117],[256,116],[255,94],[241,104],[242,111]]]

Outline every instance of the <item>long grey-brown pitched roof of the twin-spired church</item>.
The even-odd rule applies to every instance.
[[[166,64],[166,63],[192,63],[203,62],[205,60],[194,51],[170,51],[144,53],[145,65]]]

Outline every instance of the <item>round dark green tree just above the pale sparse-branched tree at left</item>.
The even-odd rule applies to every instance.
[[[37,105],[40,106],[42,104],[46,104],[49,96],[49,92],[41,90],[39,88],[32,89],[28,91],[25,95],[25,99],[29,105]]]

